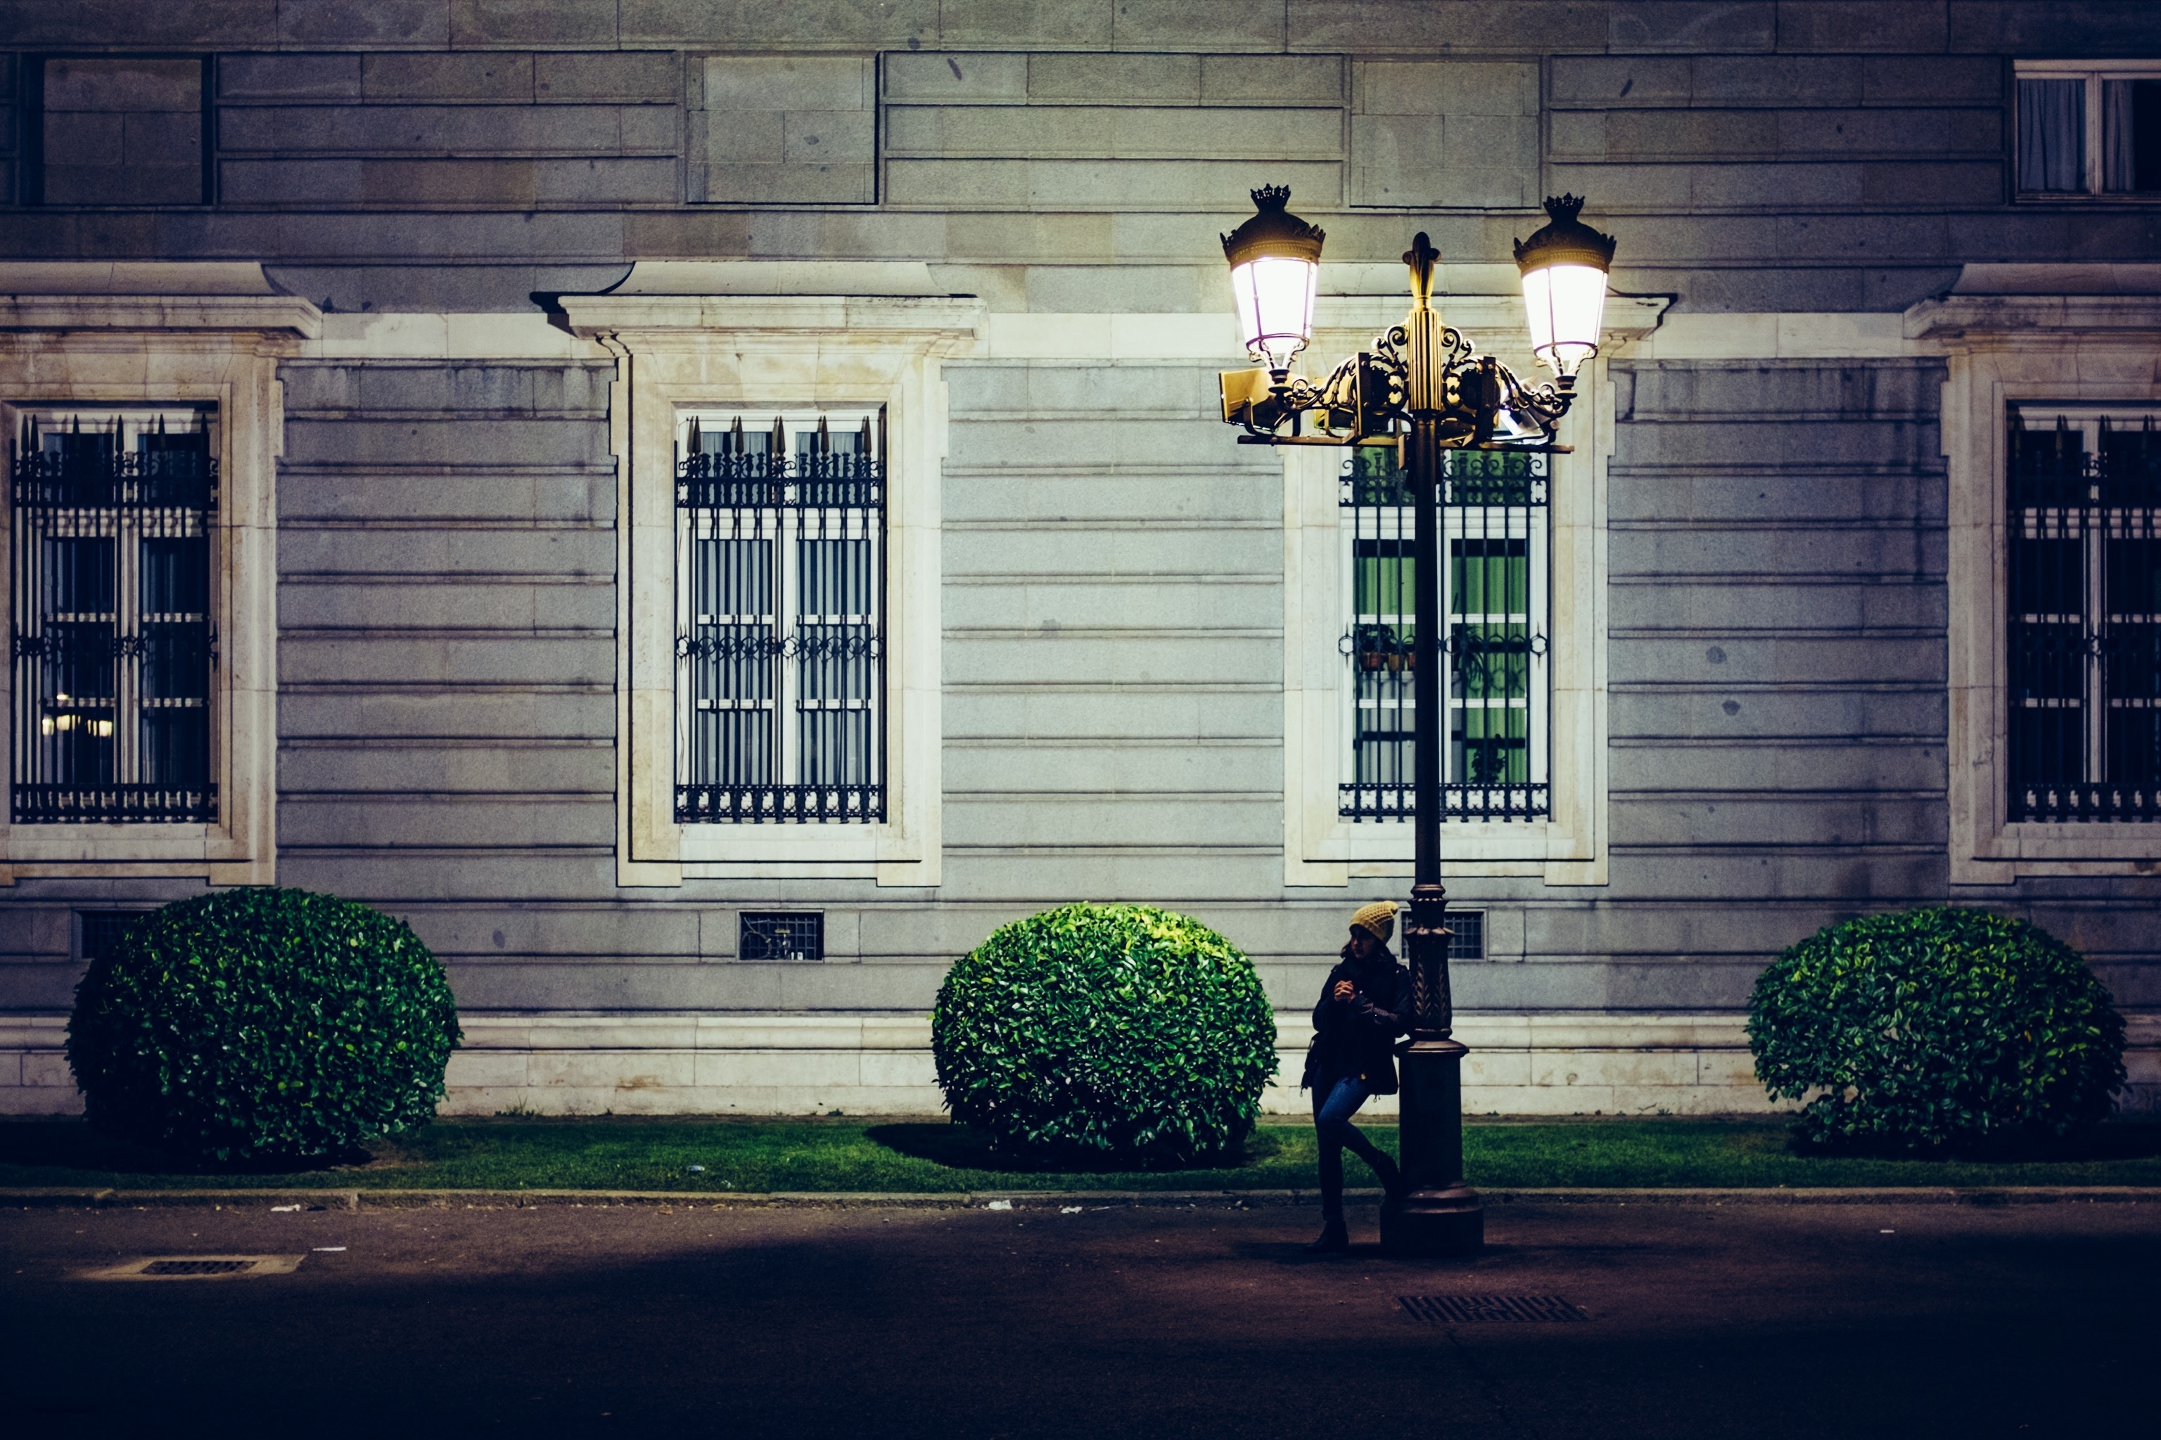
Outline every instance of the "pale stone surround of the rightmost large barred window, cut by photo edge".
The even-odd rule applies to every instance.
[[[1969,266],[1969,276],[1975,266]],[[1906,311],[1947,358],[1951,883],[2155,874],[2161,825],[2008,823],[2005,412],[2018,402],[2161,402],[2161,294],[2092,294],[2105,266],[2021,266],[2057,294],[1954,294]],[[1967,281],[1960,283],[1962,287]],[[2079,294],[2088,291],[2088,294]]]

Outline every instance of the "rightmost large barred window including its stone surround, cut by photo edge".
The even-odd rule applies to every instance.
[[[1949,460],[1949,879],[2150,874],[2161,298],[2036,266],[1906,311]],[[2062,423],[2059,423],[2062,421]]]

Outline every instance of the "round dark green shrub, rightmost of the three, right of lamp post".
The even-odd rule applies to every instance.
[[[2079,952],[1977,909],[1817,930],[1757,978],[1748,1047],[1817,1149],[2062,1138],[2124,1084],[2124,1021]]]

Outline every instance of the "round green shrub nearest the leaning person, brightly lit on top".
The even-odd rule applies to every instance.
[[[1234,1151],[1275,1073],[1253,963],[1145,905],[1063,905],[1001,926],[931,1015],[953,1118],[992,1149],[1186,1164]]]

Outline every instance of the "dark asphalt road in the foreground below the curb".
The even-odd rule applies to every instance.
[[[1359,1233],[1359,1224],[1353,1231]],[[2161,1207],[0,1213],[17,1436],[2135,1436]],[[1372,1215],[1364,1215],[1364,1235]],[[305,1254],[84,1280],[149,1254]],[[1562,1295],[1575,1323],[1398,1295]]]

